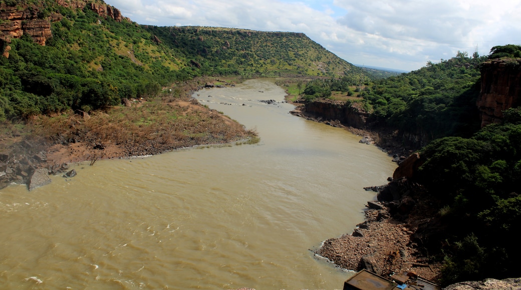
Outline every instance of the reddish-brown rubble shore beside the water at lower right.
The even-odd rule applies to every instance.
[[[400,183],[406,183],[405,179]],[[404,184],[400,185],[404,186]],[[379,187],[383,191],[386,187]],[[405,219],[396,218],[394,209],[411,207],[410,197],[399,201],[369,201],[366,220],[350,234],[326,240],[314,251],[342,269],[369,270],[382,276],[393,273],[414,272],[424,279],[439,282],[441,264],[432,261],[418,247],[417,221],[413,213]]]

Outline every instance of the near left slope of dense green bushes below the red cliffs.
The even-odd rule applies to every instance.
[[[54,37],[46,46],[22,36],[13,39],[9,58],[0,58],[0,119],[100,109],[155,95],[178,78],[160,60],[143,64],[128,57],[127,51],[152,47],[144,30],[112,19],[99,24],[89,9],[56,8],[65,17],[52,24]]]

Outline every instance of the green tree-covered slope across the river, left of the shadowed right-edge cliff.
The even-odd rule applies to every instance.
[[[330,80],[307,84],[306,100],[328,97],[330,91],[354,92],[370,113],[370,122],[379,128],[400,130],[401,134],[418,136],[420,143],[445,136],[466,136],[479,129],[477,108],[479,94],[479,64],[487,60],[477,53],[468,57],[458,52],[456,57],[427,63],[426,67],[373,83],[359,80]],[[316,94],[318,91],[319,94]]]

